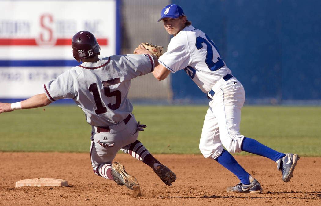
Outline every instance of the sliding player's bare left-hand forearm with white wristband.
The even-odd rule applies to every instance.
[[[45,93],[34,95],[29,99],[23,100],[21,102],[16,103],[0,103],[0,113],[2,112],[10,112],[15,109],[30,109],[30,108],[37,108],[43,107],[50,104],[51,101],[48,99]]]

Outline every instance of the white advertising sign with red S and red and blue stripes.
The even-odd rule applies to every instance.
[[[2,0],[0,98],[43,93],[44,83],[77,65],[71,39],[78,31],[95,35],[100,57],[116,54],[117,1]]]

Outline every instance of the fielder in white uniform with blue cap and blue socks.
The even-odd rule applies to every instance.
[[[159,21],[163,21],[166,31],[173,37],[167,52],[160,56],[158,59],[160,64],[152,73],[160,81],[167,78],[170,73],[184,69],[211,100],[205,115],[199,148],[205,158],[218,161],[239,178],[240,183],[228,187],[227,192],[262,192],[260,183],[230,154],[241,151],[265,156],[275,161],[277,169],[282,171],[283,181],[288,182],[299,155],[277,152],[240,134],[244,88],[222,60],[214,42],[204,32],[191,26],[182,8],[176,4],[165,6]],[[148,50],[135,52],[150,54]]]

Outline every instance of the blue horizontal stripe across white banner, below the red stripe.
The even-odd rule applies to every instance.
[[[0,60],[0,67],[74,67],[80,64],[76,60]]]

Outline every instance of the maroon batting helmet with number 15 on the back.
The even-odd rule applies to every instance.
[[[95,54],[100,55],[100,45],[96,37],[89,31],[79,31],[74,35],[72,43],[74,58],[80,62],[82,58],[88,58]]]

